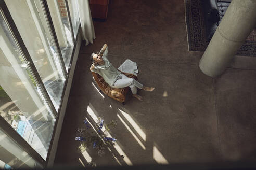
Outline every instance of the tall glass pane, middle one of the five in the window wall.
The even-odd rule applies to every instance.
[[[65,78],[41,1],[12,0],[6,5],[58,111]]]

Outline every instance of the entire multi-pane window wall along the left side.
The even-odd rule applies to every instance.
[[[77,5],[5,0],[0,7],[0,168],[43,168],[78,34]]]

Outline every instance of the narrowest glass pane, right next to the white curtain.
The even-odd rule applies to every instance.
[[[59,0],[59,2],[63,2],[64,0]],[[69,13],[71,18],[71,23],[73,26],[73,32],[74,37],[76,38],[76,35],[78,34],[78,28],[79,28],[79,14],[78,14],[78,1],[74,0],[68,0],[69,4]]]

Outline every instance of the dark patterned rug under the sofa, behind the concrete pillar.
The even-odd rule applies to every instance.
[[[185,0],[189,51],[204,51],[209,44],[206,38],[206,26],[204,25],[201,1],[205,0]],[[244,45],[238,50],[237,55],[256,57],[256,29],[248,36]]]

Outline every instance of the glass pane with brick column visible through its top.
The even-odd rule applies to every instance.
[[[72,40],[66,5],[61,0],[47,0],[47,4],[50,16],[53,20],[61,54],[66,69],[68,70],[74,43]]]

